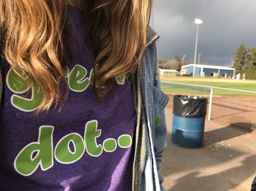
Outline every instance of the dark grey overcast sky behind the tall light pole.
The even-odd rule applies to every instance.
[[[230,67],[241,43],[256,46],[256,0],[155,0],[151,25],[160,35],[160,57],[193,60],[195,18],[203,20],[197,46],[201,63]]]

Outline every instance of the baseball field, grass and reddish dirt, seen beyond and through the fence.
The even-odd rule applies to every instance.
[[[172,101],[175,94],[186,94],[210,97],[209,87],[223,87],[225,89],[213,89],[211,120],[233,124],[252,131],[256,129],[256,80],[234,80],[225,78],[200,78],[200,77],[161,77],[162,91],[167,93]],[[165,82],[165,83],[164,83]],[[182,84],[168,85],[166,82]],[[184,84],[188,84],[187,86]],[[201,85],[199,88],[190,85]],[[205,91],[204,91],[205,90]],[[208,90],[208,91],[207,91]],[[235,91],[238,90],[238,91]],[[255,93],[239,92],[246,90]],[[207,112],[209,113],[209,112]]]

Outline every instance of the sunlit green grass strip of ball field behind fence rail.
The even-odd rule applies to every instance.
[[[161,80],[185,83],[185,84],[198,84],[198,85],[206,85],[206,86],[224,87],[224,88],[237,89],[237,90],[248,90],[248,91],[256,92],[256,80],[236,81],[236,80],[224,79],[224,78],[201,78],[201,77],[181,77],[181,76],[170,76],[170,77],[164,76],[161,78]],[[164,92],[169,92],[169,93],[186,93],[186,94],[203,94],[203,95],[209,94],[207,92],[188,90],[188,89],[171,87],[171,86],[162,86],[162,90]],[[219,95],[237,94],[237,92],[216,89],[215,94],[219,94]]]

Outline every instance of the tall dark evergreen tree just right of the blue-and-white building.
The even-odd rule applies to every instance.
[[[244,69],[244,65],[247,63],[247,49],[244,44],[241,44],[233,58],[233,68],[236,72],[241,72]]]

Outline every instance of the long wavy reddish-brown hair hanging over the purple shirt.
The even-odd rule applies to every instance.
[[[103,99],[115,76],[132,74],[146,46],[151,0],[87,1],[87,25],[99,70],[91,79]],[[6,61],[31,83],[36,80],[44,99],[37,111],[64,103],[68,84],[64,74],[67,6],[64,0],[0,0],[0,34],[4,34]],[[99,86],[95,85],[96,80]],[[60,91],[61,82],[66,92]],[[101,88],[105,86],[105,88]]]

